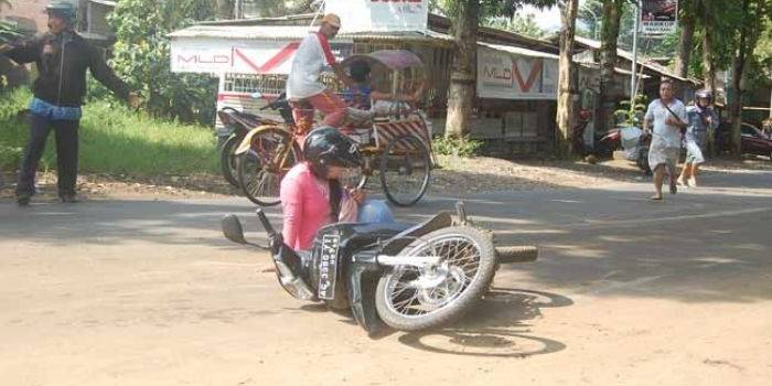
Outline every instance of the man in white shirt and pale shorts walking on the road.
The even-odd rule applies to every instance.
[[[663,79],[660,84],[660,98],[648,105],[643,118],[645,131],[652,131],[648,150],[648,165],[654,172],[654,195],[651,200],[662,201],[662,185],[665,174],[669,176],[671,193],[676,194],[676,167],[680,154],[680,130],[687,127],[686,106],[673,96],[673,81]]]

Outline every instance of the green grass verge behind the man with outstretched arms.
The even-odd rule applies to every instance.
[[[0,94],[0,169],[19,165],[29,138],[29,125],[21,111],[31,97],[24,88]],[[114,99],[84,107],[79,141],[82,172],[153,176],[218,171],[211,128],[152,118]],[[40,169],[55,168],[52,133]]]

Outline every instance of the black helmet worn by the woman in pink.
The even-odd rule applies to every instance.
[[[326,167],[358,168],[362,165],[360,147],[353,139],[332,127],[320,127],[305,137],[303,157],[317,172]]]

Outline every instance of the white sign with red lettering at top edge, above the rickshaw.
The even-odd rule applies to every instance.
[[[429,0],[326,0],[325,13],[341,17],[341,32],[427,30]]]

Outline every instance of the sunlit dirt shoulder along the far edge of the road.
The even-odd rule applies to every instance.
[[[597,164],[581,161],[511,161],[490,157],[439,157],[440,168],[432,171],[429,194],[467,195],[506,191],[599,187],[620,183],[645,182],[632,162],[614,159]],[[769,159],[711,160],[707,173],[735,173],[743,170],[772,170]],[[13,199],[15,175],[0,174],[0,200]],[[37,200],[56,200],[56,175],[39,173]],[[371,189],[379,190],[379,180],[372,179]],[[84,173],[78,176],[78,192],[86,200],[136,199],[214,199],[242,195],[221,175],[158,175],[137,178]]]

